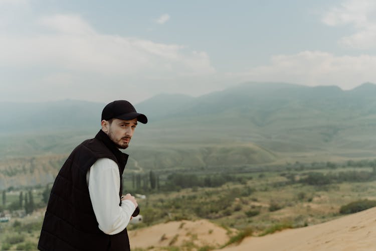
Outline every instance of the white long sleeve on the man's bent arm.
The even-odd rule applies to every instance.
[[[117,164],[108,158],[98,159],[86,174],[91,203],[98,227],[106,234],[121,232],[136,209],[130,200],[119,206],[120,174]]]

